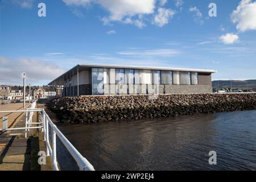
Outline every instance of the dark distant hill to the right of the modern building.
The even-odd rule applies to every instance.
[[[256,80],[232,80],[232,89],[247,89],[247,82],[248,82],[248,89],[256,91]],[[212,81],[212,88],[230,88],[230,80],[216,80]]]

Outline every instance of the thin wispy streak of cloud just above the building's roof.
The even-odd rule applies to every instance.
[[[119,55],[125,56],[160,56],[160,57],[172,57],[180,53],[176,49],[150,49],[150,50],[132,50],[132,51],[122,51],[118,52]]]

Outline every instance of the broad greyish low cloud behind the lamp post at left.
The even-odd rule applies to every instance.
[[[23,72],[26,73],[28,82],[39,82],[53,80],[65,70],[42,60],[0,57],[0,82],[18,84],[22,81],[20,74]]]

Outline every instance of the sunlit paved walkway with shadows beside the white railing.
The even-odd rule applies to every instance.
[[[9,104],[2,105],[0,110],[23,110],[23,107],[22,103]],[[25,126],[24,113],[4,113],[0,115],[0,128],[3,116],[8,117],[9,127]],[[32,122],[36,122],[36,114]],[[36,133],[36,130],[30,131],[28,138],[24,138],[23,130],[0,133],[0,171],[40,170],[37,164],[39,139]]]

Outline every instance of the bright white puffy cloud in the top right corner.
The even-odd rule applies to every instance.
[[[233,11],[231,20],[237,23],[237,29],[242,32],[256,30],[256,1],[242,0]]]

